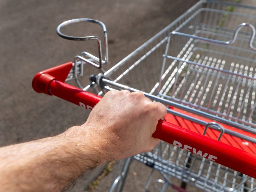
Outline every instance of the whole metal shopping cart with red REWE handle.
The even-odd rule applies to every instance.
[[[153,134],[163,141],[151,152],[120,161],[110,191],[122,189],[132,159],[152,168],[147,191],[155,170],[162,176],[154,183],[157,191],[167,186],[186,191],[187,183],[205,191],[256,191],[255,15],[256,7],[201,0],[107,71],[105,25],[69,20],[57,33],[70,40],[96,39],[98,57],[82,52],[74,62],[37,73],[32,85],[36,92],[90,110],[113,89],[139,90],[166,105],[168,114]],[[102,27],[104,43],[98,36],[60,31],[84,21]],[[83,86],[87,64],[100,72]],[[65,83],[72,79],[78,88]],[[182,181],[181,187],[172,184],[173,177]]]

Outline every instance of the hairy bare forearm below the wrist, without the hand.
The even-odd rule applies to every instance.
[[[0,190],[60,191],[85,170],[105,162],[97,141],[78,140],[73,137],[76,129],[0,148]]]

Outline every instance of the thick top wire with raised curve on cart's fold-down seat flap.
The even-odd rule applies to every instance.
[[[253,45],[252,45],[256,32],[255,32],[254,26],[252,24],[250,24],[250,23],[241,23],[240,25],[238,25],[238,27],[236,28],[235,33],[234,33],[234,35],[233,35],[233,37],[232,37],[232,39],[230,41],[214,40],[214,39],[209,39],[209,38],[200,37],[200,36],[196,36],[196,35],[189,35],[189,34],[186,34],[186,33],[180,33],[180,32],[176,32],[176,31],[172,31],[171,33],[169,33],[169,38],[171,37],[171,35],[180,35],[180,36],[186,36],[186,37],[189,37],[189,38],[194,38],[194,39],[199,39],[199,40],[207,41],[207,42],[210,42],[210,43],[218,43],[218,44],[229,45],[229,44],[233,44],[236,41],[236,37],[238,35],[238,32],[243,27],[250,27],[251,28],[252,34],[250,36],[248,44],[249,44],[249,47],[253,51],[256,51],[256,48],[253,47]],[[164,57],[165,56],[166,55],[164,55]]]

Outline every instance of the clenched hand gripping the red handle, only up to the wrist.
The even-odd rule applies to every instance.
[[[150,151],[159,143],[152,134],[165,115],[163,104],[141,92],[109,91],[78,130],[100,151],[101,158],[123,159]]]

